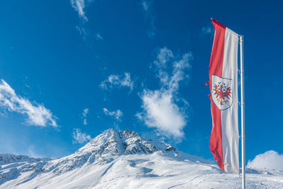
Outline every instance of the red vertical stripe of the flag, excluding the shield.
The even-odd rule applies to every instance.
[[[222,76],[223,59],[224,59],[224,40],[225,40],[225,30],[226,27],[221,25],[215,20],[212,20],[214,25],[214,42],[212,46],[212,55],[210,57],[209,64],[209,79],[210,79],[210,91],[212,94],[209,96],[212,105],[212,134],[210,136],[209,148],[214,154],[214,159],[216,159],[219,168],[224,170],[223,164],[223,153],[222,153],[222,130],[221,130],[221,110],[216,107],[212,101],[212,75]]]

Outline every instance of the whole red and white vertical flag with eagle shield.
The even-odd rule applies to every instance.
[[[219,168],[239,173],[238,34],[212,19],[214,42],[209,64],[212,108],[210,150]]]

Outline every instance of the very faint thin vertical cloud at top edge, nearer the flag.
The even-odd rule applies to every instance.
[[[154,25],[154,13],[152,11],[153,0],[142,0],[141,6],[145,14],[146,21],[149,22],[149,30],[147,35],[149,38],[153,38],[156,34],[156,27]]]

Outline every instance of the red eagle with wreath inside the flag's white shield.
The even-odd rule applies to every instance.
[[[220,105],[224,105],[224,103],[228,103],[231,98],[231,87],[227,87],[224,82],[218,82],[218,84],[214,84],[214,96]]]

